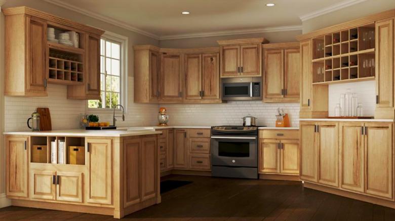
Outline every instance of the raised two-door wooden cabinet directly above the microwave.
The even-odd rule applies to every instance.
[[[262,75],[261,44],[263,38],[217,41],[221,46],[221,78]]]

